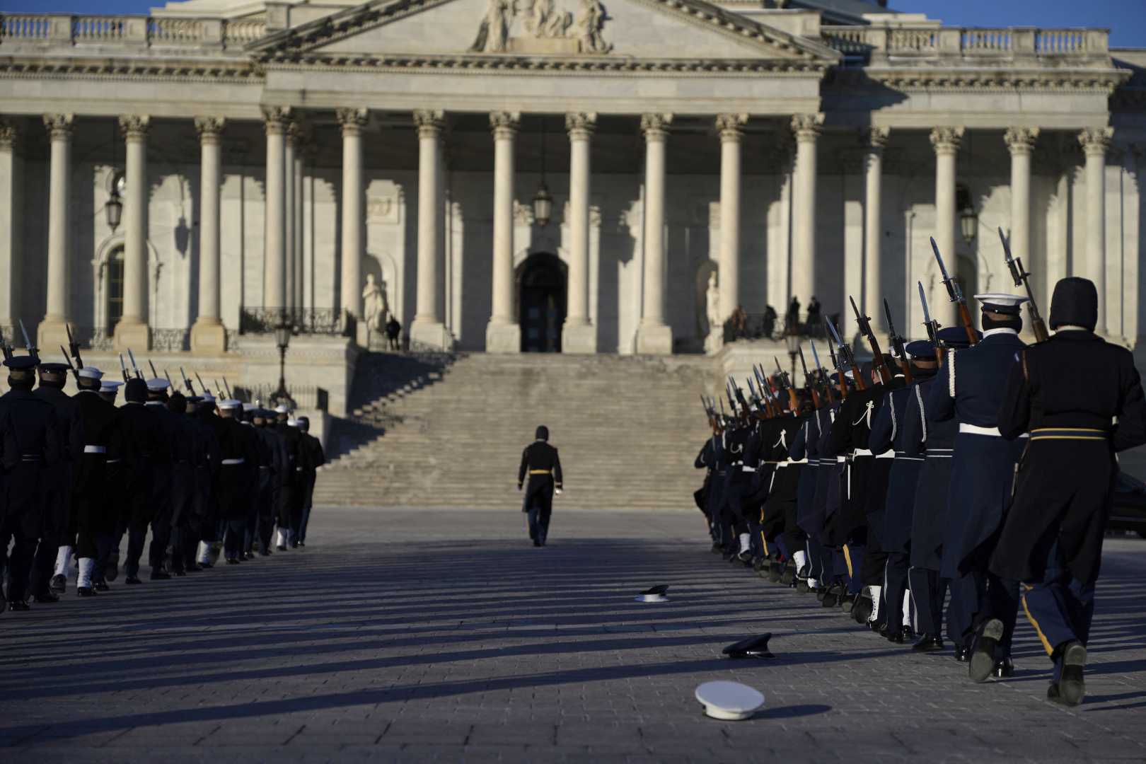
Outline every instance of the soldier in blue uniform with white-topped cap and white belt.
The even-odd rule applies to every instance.
[[[1003,389],[1019,351],[1022,329],[1020,306],[1025,297],[976,294],[982,307],[983,339],[964,351],[949,353],[927,396],[931,422],[957,419],[948,494],[948,522],[943,536],[940,574],[950,581],[948,609],[950,631],[957,645],[972,648],[975,629],[989,612],[1004,624],[997,644],[996,664],[979,665],[973,675],[986,679],[1013,674],[1011,638],[1019,607],[1019,582],[1000,578],[987,569],[995,536],[1011,498],[1014,466],[1023,442],[1004,439],[998,430]]]

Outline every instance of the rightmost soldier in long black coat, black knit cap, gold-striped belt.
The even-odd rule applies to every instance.
[[[1115,454],[1146,443],[1146,400],[1133,356],[1094,334],[1097,321],[1094,284],[1059,281],[1050,315],[1055,333],[1020,351],[998,413],[1003,438],[1030,435],[989,569],[1023,582],[1027,616],[1054,662],[1047,699],[1066,706],[1081,703],[1085,690]],[[995,663],[1005,617],[991,613],[972,665]]]

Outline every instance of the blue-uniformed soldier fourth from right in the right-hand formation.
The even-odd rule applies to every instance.
[[[893,389],[884,407],[876,415],[868,439],[872,451],[892,450],[895,457],[887,476],[887,494],[884,499],[884,531],[881,541],[887,550],[887,568],[884,575],[884,598],[887,601],[885,636],[902,643],[913,636],[910,622],[904,622],[902,602],[908,589],[911,549],[911,515],[916,502],[916,487],[924,457],[909,456],[904,447],[903,422],[908,405],[915,402],[916,387],[935,376],[935,345],[931,340],[909,342],[904,351],[910,356],[913,384]]]

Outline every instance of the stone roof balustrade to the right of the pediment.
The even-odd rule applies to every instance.
[[[900,63],[919,58],[968,62],[1045,58],[1086,62],[1109,55],[1101,29],[972,29],[960,26],[822,26],[824,41],[851,62]]]

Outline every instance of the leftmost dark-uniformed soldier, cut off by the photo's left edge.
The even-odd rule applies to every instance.
[[[55,408],[32,394],[36,384],[33,356],[5,360],[8,392],[0,396],[0,438],[6,507],[0,526],[0,549],[8,549],[8,609],[29,609],[29,576],[36,545],[48,530],[47,483],[60,462],[60,427]]]

